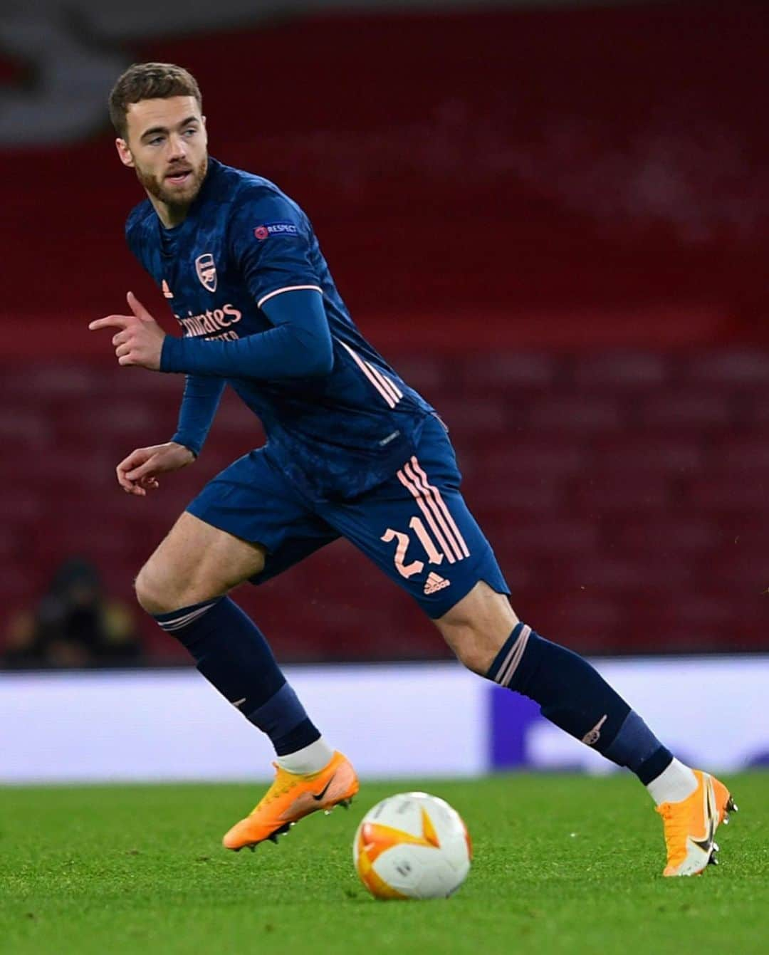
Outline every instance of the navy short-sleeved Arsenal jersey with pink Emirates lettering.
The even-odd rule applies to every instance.
[[[126,239],[185,337],[258,335],[273,328],[262,307],[274,296],[307,288],[322,294],[329,373],[226,377],[262,420],[270,456],[310,494],[352,498],[414,454],[433,409],[355,328],[308,217],[272,182],[209,159],[181,225],[163,228],[145,200],[128,217]],[[191,384],[204,389],[195,378]]]

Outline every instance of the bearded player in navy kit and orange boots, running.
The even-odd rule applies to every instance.
[[[465,667],[536,700],[545,717],[648,788],[663,817],[666,876],[715,860],[734,809],[716,778],[673,757],[587,661],[518,620],[494,553],[459,492],[447,429],[352,323],[305,213],[272,182],[207,154],[194,77],[141,63],[110,95],[117,155],[147,199],[126,238],[182,326],[166,335],[128,292],[113,329],[121,366],[183,373],[179,426],[139,448],[117,481],[139,497],[192,464],[224,386],[267,444],[203,488],[139,571],[139,604],[203,676],[269,736],[275,780],[224,845],[275,840],[357,792],[288,685],[259,628],[227,596],[345,537],[435,621]]]

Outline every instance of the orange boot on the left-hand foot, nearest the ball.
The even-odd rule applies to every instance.
[[[278,836],[310,813],[323,809],[328,814],[334,806],[347,809],[358,791],[358,777],[343,753],[335,752],[327,766],[308,775],[272,765],[277,770],[274,782],[250,815],[224,836],[224,848],[239,852],[245,846],[253,850],[266,838],[277,842]]]

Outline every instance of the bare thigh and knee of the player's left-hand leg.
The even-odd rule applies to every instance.
[[[157,614],[220,597],[261,573],[265,554],[185,511],[139,571],[137,600]]]

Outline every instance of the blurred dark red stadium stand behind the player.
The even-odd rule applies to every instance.
[[[643,652],[767,647],[768,42],[763,4],[714,3],[300,17],[129,53],[196,74],[212,154],[308,211],[358,325],[448,422],[523,619]],[[85,330],[128,287],[167,314],[123,243],[141,196],[112,138],[0,152],[9,613],[74,553],[130,600],[261,440],[227,400],[194,468],[117,490],[182,380],[118,371]],[[446,652],[345,543],[239,600],[282,659]]]

